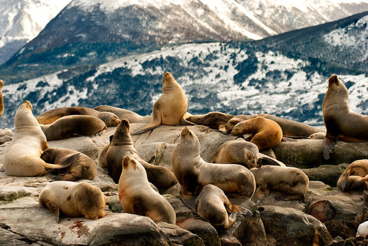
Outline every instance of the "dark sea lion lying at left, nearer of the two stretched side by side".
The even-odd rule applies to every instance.
[[[52,124],[40,125],[47,141],[67,139],[75,136],[101,135],[108,131],[102,120],[90,115],[68,115]]]

